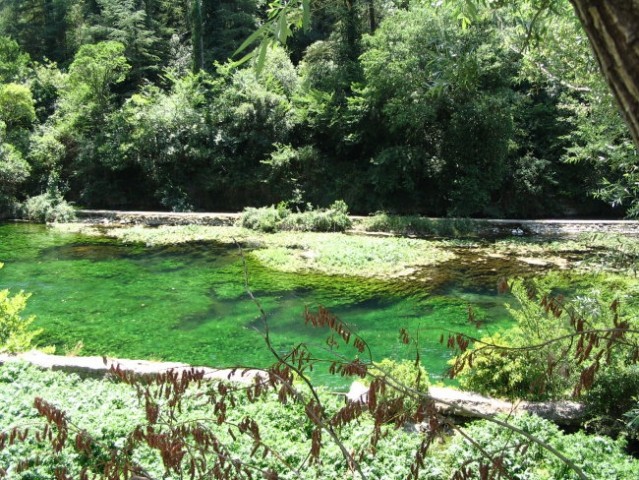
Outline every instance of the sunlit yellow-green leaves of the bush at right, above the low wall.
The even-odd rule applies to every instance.
[[[524,286],[522,282],[515,282],[511,290],[518,307],[507,305],[507,308],[517,322],[516,327],[504,334],[480,339],[451,361],[462,387],[493,396],[544,399],[578,395],[591,388],[592,381],[582,384],[581,372],[587,367],[595,369],[591,372],[593,375],[594,371],[612,368],[610,375],[614,378],[616,364],[606,361],[606,357],[602,360],[605,352],[597,357],[601,362],[593,362],[589,355],[583,357],[584,343],[594,340],[588,337],[586,341],[577,342],[576,319],[580,319],[579,325],[585,325],[588,331],[605,331],[614,328],[619,321],[617,315],[627,319],[621,321],[632,322],[635,305],[630,303],[617,311],[616,301],[597,291],[575,294],[568,302],[557,300],[549,292],[537,292],[535,287]],[[621,292],[615,294],[615,298],[620,298]],[[611,302],[613,307],[606,302]],[[600,347],[599,342],[596,345],[593,343],[588,352]],[[630,352],[620,347],[616,354],[623,357]],[[579,358],[583,360],[578,362]]]

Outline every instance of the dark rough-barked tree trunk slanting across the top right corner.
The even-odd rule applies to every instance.
[[[639,0],[570,0],[639,149]]]

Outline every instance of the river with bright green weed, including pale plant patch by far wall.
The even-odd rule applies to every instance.
[[[327,332],[303,322],[305,307],[322,305],[371,344],[376,360],[414,356],[401,343],[399,329],[419,331],[420,356],[435,377],[443,375],[451,355],[438,343],[441,333],[482,336],[511,325],[503,307],[507,298],[496,293],[501,277],[535,275],[562,291],[574,291],[571,285],[578,282],[598,284],[591,273],[520,261],[522,252],[544,255],[543,245],[521,241],[253,235],[201,226],[109,230],[125,243],[99,230],[87,236],[66,228],[0,225],[0,261],[6,264],[0,288],[33,293],[26,314],[36,315],[34,327],[45,330],[40,344],[60,353],[82,342],[83,355],[217,367],[270,364],[259,313],[246,293],[242,257],[231,246],[235,238],[245,247],[250,287],[267,311],[278,350],[301,342],[326,349]],[[320,271],[320,261],[334,274]],[[389,272],[404,276],[389,278]],[[611,284],[616,291],[631,286],[631,277],[618,278],[623,281]],[[468,325],[469,306],[484,320],[484,331]]]

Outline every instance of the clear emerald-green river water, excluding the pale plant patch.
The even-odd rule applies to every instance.
[[[82,355],[216,367],[272,362],[234,248],[211,243],[148,248],[18,223],[0,225],[0,261],[5,263],[0,288],[32,293],[27,313],[44,329],[39,343],[55,345],[58,353],[82,342]],[[497,273],[473,274],[464,261],[430,272],[436,282],[286,274],[250,258],[247,265],[278,351],[306,342],[316,355],[329,356],[327,332],[303,321],[305,306],[323,305],[369,343],[375,359],[414,356],[398,332],[419,331],[420,355],[437,377],[450,356],[439,345],[442,332],[482,335],[508,323],[505,298],[494,292]],[[468,305],[485,318],[480,332],[467,326]],[[333,383],[319,370],[322,381]]]

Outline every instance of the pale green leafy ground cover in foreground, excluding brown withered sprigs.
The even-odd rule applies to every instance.
[[[153,386],[149,387],[154,391]],[[210,386],[193,385],[182,395],[182,408],[171,410],[168,403],[159,400],[157,419],[148,405],[137,398],[134,389],[112,381],[80,380],[75,375],[45,372],[25,364],[10,363],[0,366],[0,432],[7,433],[13,427],[29,427],[30,434],[22,441],[5,442],[0,448],[0,471],[6,478],[45,479],[56,476],[64,468],[70,478],[78,478],[86,468],[90,474],[98,474],[114,453],[127,451],[130,459],[143,468],[151,478],[182,478],[175,466],[188,469],[191,458],[206,460],[209,468],[214,462],[214,448],[196,448],[197,440],[184,435],[185,444],[175,444],[184,451],[181,462],[173,463],[173,471],[165,472],[159,445],[150,447],[146,442],[134,442],[125,448],[127,438],[141,428],[145,431],[152,424],[157,433],[167,433],[179,426],[198,425],[208,434],[215,435],[226,449],[228,461],[246,462],[258,470],[271,469],[281,479],[352,479],[359,478],[346,465],[337,446],[325,436],[318,462],[308,462],[314,425],[304,414],[304,407],[293,401],[283,405],[275,393],[257,401],[249,401],[247,395],[238,393],[235,405],[226,410],[225,420],[218,425],[219,411],[210,396]],[[216,389],[219,391],[219,389]],[[302,390],[302,394],[306,395]],[[342,401],[320,391],[320,398],[327,413],[335,413]],[[44,426],[44,420],[34,408],[34,399],[41,397],[56,409],[65,413],[69,422],[68,438],[59,452],[54,452],[46,440],[35,437],[35,431]],[[81,399],[81,401],[78,401]],[[174,411],[171,418],[168,412]],[[254,439],[250,431],[245,434],[232,425],[239,425],[250,418],[259,426],[261,447],[254,451]],[[551,423],[534,416],[511,418],[517,427],[535,435],[582,468],[590,479],[636,479],[639,462],[623,453],[623,441],[613,441],[583,433],[567,435]],[[406,478],[415,449],[423,434],[409,429],[384,427],[386,434],[377,448],[370,448],[373,420],[364,413],[356,423],[349,423],[338,430],[345,447],[361,462],[361,470],[370,479],[394,480]],[[57,427],[51,427],[54,438]],[[517,478],[577,478],[559,459],[538,446],[521,449],[522,438],[486,422],[476,422],[466,429],[474,445],[459,434],[447,434],[436,442],[427,455],[419,478],[440,480],[451,478],[460,468],[478,468],[483,462],[480,449],[499,449],[504,468]],[[201,430],[204,431],[204,430]],[[234,431],[234,433],[230,433]],[[91,438],[91,448],[83,449],[75,441],[76,435]],[[171,438],[171,437],[167,437]],[[153,442],[150,442],[153,443]],[[262,455],[264,447],[268,454]],[[202,465],[198,463],[198,465]],[[516,472],[515,470],[516,469]],[[171,470],[171,469],[169,469]],[[211,478],[198,474],[194,478]],[[238,474],[233,478],[246,478]],[[275,478],[275,477],[273,477]]]

